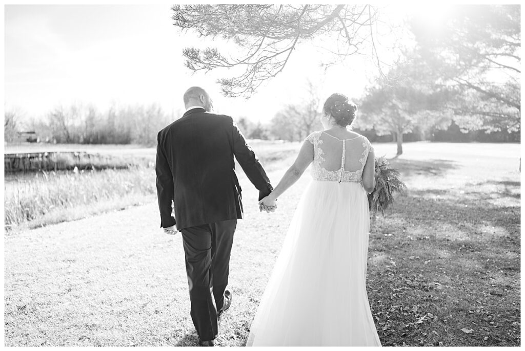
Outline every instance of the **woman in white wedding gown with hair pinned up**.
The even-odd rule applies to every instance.
[[[323,131],[303,142],[296,161],[261,206],[312,163],[312,178],[290,223],[246,346],[381,346],[366,295],[369,207],[375,188],[370,141],[347,130],[357,106],[342,94],[324,103]]]

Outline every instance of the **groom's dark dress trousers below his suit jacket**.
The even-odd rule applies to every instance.
[[[193,324],[201,340],[217,337],[237,220],[181,229]]]

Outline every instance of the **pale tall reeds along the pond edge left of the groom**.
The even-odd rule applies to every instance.
[[[153,195],[155,170],[130,166],[125,170],[40,172],[34,180],[18,182],[5,192],[7,227],[41,220],[57,211],[94,205],[130,194]],[[5,186],[6,187],[6,186]]]

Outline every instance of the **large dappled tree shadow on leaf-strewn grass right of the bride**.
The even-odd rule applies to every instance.
[[[383,346],[520,345],[520,183],[486,183],[409,190],[377,218],[367,283]]]

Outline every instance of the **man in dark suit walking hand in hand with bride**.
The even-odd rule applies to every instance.
[[[243,217],[234,156],[259,190],[259,200],[273,188],[232,117],[211,113],[212,100],[204,89],[190,87],[184,105],[182,118],[157,136],[157,196],[161,227],[169,234],[182,233],[199,345],[213,346],[217,317],[232,303],[226,290],[229,259],[237,218]]]

